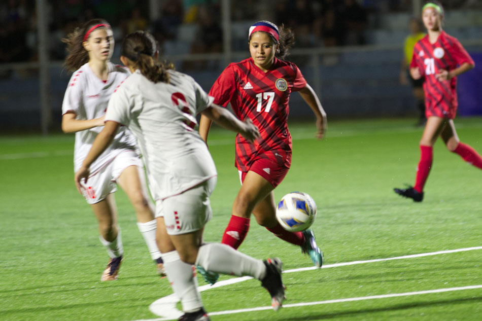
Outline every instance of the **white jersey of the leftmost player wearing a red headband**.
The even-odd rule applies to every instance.
[[[129,71],[121,66],[109,62],[109,75],[104,83],[92,72],[86,63],[79,68],[68,82],[62,103],[62,115],[74,112],[76,119],[87,120],[100,118],[105,115],[107,104],[116,88],[129,76]],[[89,153],[92,143],[102,126],[81,130],[75,133],[74,170],[77,171]],[[94,174],[105,164],[112,161],[125,150],[136,150],[136,141],[132,133],[121,127],[112,144],[90,166]]]

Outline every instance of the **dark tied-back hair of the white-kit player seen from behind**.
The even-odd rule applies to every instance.
[[[141,70],[147,79],[154,83],[169,83],[168,69],[174,69],[173,64],[157,61],[156,40],[148,31],[135,31],[127,35],[122,44],[121,55],[134,63],[134,68]]]

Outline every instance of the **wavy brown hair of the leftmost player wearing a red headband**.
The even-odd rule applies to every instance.
[[[75,70],[79,69],[83,64],[89,62],[89,53],[83,46],[84,36],[90,28],[98,24],[109,25],[106,20],[92,19],[84,23],[81,27],[75,28],[66,38],[62,39],[62,42],[67,44],[68,54],[63,63],[67,70],[75,72]]]

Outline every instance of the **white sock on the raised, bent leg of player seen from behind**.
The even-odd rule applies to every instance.
[[[236,251],[229,245],[221,243],[205,243],[199,247],[196,265],[206,271],[230,275],[250,275],[261,280],[266,274],[263,261],[256,260]]]

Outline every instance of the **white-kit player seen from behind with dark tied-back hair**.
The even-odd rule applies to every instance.
[[[206,321],[193,264],[205,270],[251,275],[261,280],[273,309],[281,307],[284,286],[279,259],[256,260],[220,243],[204,243],[204,225],[211,219],[210,195],[216,185],[216,167],[208,147],[194,130],[196,115],[239,132],[253,141],[259,131],[250,120],[236,119],[213,103],[190,77],[157,61],[152,35],[136,31],[127,35],[121,61],[132,75],[112,95],[104,129],[75,174],[79,188],[92,164],[111,146],[115,133],[127,126],[137,137],[146,165],[149,186],[156,201],[157,241],[167,277],[181,300],[182,321]]]

